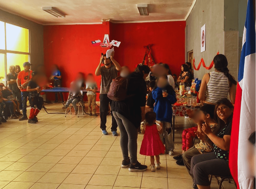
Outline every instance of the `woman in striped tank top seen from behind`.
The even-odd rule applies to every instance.
[[[232,104],[235,103],[237,81],[229,73],[228,60],[223,54],[218,54],[213,59],[215,71],[203,76],[199,90],[199,99],[206,104],[213,104],[227,98],[228,93]]]

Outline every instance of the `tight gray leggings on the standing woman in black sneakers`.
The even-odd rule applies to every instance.
[[[123,159],[129,159],[129,153],[131,157],[131,163],[137,163],[137,128],[130,122],[125,116],[113,111],[113,116],[116,119],[118,128],[120,130],[120,146],[123,153]]]

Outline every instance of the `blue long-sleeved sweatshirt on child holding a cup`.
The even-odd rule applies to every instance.
[[[167,97],[163,97],[163,91],[167,90]],[[172,122],[172,104],[176,99],[176,94],[170,85],[165,88],[157,87],[152,91],[152,97],[155,99],[156,104],[154,106],[154,112],[156,113],[156,120],[164,122]]]

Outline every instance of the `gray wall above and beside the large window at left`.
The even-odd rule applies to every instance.
[[[44,64],[44,27],[25,18],[8,13],[0,9],[0,20],[10,24],[19,25],[30,30],[30,62],[33,64],[32,69],[36,65]],[[21,68],[22,69],[22,68]]]

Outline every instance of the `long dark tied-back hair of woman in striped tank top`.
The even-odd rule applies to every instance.
[[[230,87],[232,84],[237,85],[237,81],[234,80],[233,76],[229,73],[228,69],[228,60],[223,54],[218,54],[213,59],[214,62],[214,68],[218,71],[221,71],[224,73],[224,75],[228,78],[230,81]]]

